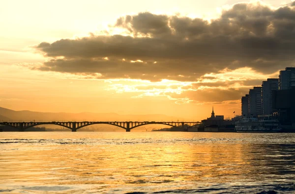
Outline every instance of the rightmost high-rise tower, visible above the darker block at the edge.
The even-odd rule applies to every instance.
[[[288,90],[295,86],[295,68],[287,67],[284,71],[280,71],[279,90]]]

